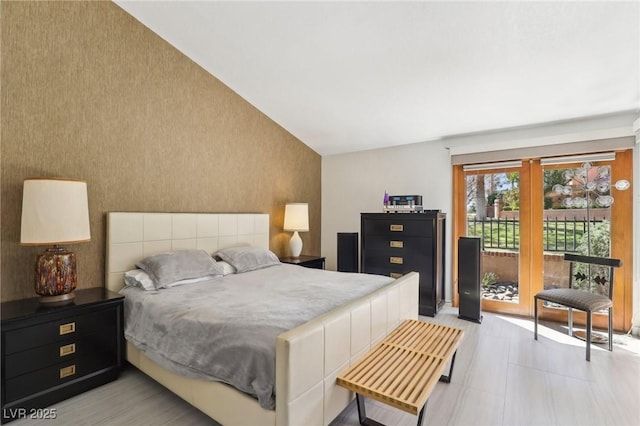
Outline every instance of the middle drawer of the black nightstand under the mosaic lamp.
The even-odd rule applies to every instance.
[[[5,359],[5,377],[11,379],[61,362],[90,357],[100,352],[111,353],[110,356],[114,357],[117,331],[115,323],[109,325],[100,334],[63,340],[8,355]]]

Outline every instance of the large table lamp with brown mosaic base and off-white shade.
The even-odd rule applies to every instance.
[[[20,243],[52,245],[36,258],[35,292],[43,304],[73,301],[78,283],[75,253],[63,244],[90,241],[87,183],[71,179],[26,179]]]

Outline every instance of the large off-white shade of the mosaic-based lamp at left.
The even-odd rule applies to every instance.
[[[89,241],[87,183],[69,179],[26,179],[20,230],[20,243],[24,245]]]

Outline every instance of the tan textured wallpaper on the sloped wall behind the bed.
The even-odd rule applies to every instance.
[[[104,285],[108,211],[264,212],[287,254],[286,202],[320,253],[321,158],[111,2],[2,1],[2,301],[32,297],[44,247],[20,240],[22,182],[86,180],[78,288]]]

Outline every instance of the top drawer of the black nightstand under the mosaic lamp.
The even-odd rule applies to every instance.
[[[9,330],[5,333],[4,353],[11,355],[90,333],[112,332],[107,331],[105,327],[112,326],[116,321],[116,316],[115,309],[103,309]]]

